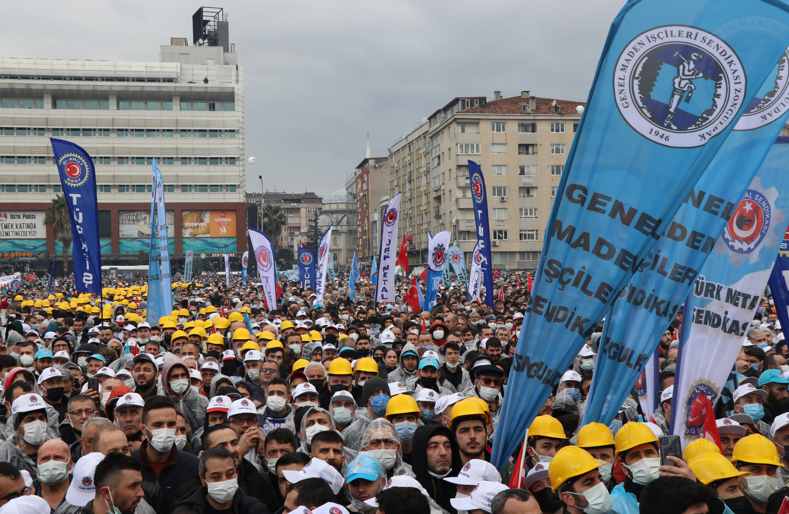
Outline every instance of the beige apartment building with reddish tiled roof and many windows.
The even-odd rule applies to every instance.
[[[469,188],[470,159],[481,166],[488,188],[493,266],[536,268],[548,214],[583,106],[584,102],[534,97],[529,91],[502,98],[495,91],[490,101],[458,97],[436,110],[421,134],[427,143],[420,174],[423,184],[404,188],[417,197],[415,206],[421,207],[417,216],[423,215],[414,219],[414,237],[422,224],[432,233],[449,230],[470,259],[477,240]],[[394,158],[402,158],[397,151],[402,152],[403,145],[396,146],[391,148],[390,164]],[[425,158],[429,169],[425,169]],[[429,184],[425,188],[426,177]],[[402,182],[395,185],[392,179],[390,193],[400,191]],[[409,233],[408,229],[401,223],[401,233]],[[424,256],[419,262],[424,262]]]

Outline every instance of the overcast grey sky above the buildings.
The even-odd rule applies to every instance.
[[[247,190],[342,188],[456,96],[585,101],[623,0],[215,2],[245,69]],[[9,2],[2,56],[158,61],[199,2]]]

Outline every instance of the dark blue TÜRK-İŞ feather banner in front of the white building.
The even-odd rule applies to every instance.
[[[101,296],[99,203],[93,159],[70,141],[50,137],[50,142],[71,217],[74,289]]]

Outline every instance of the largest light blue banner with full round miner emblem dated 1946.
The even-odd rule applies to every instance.
[[[492,464],[507,462],[750,110],[787,23],[789,6],[768,0],[630,0],[615,18],[548,219]]]

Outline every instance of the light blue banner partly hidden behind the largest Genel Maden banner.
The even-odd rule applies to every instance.
[[[753,109],[735,125],[606,316],[584,423],[608,425],[616,417],[783,129],[789,116],[789,110],[780,106],[787,101],[787,58],[784,52],[751,102]],[[775,114],[776,107],[780,114],[764,116],[765,111]]]

